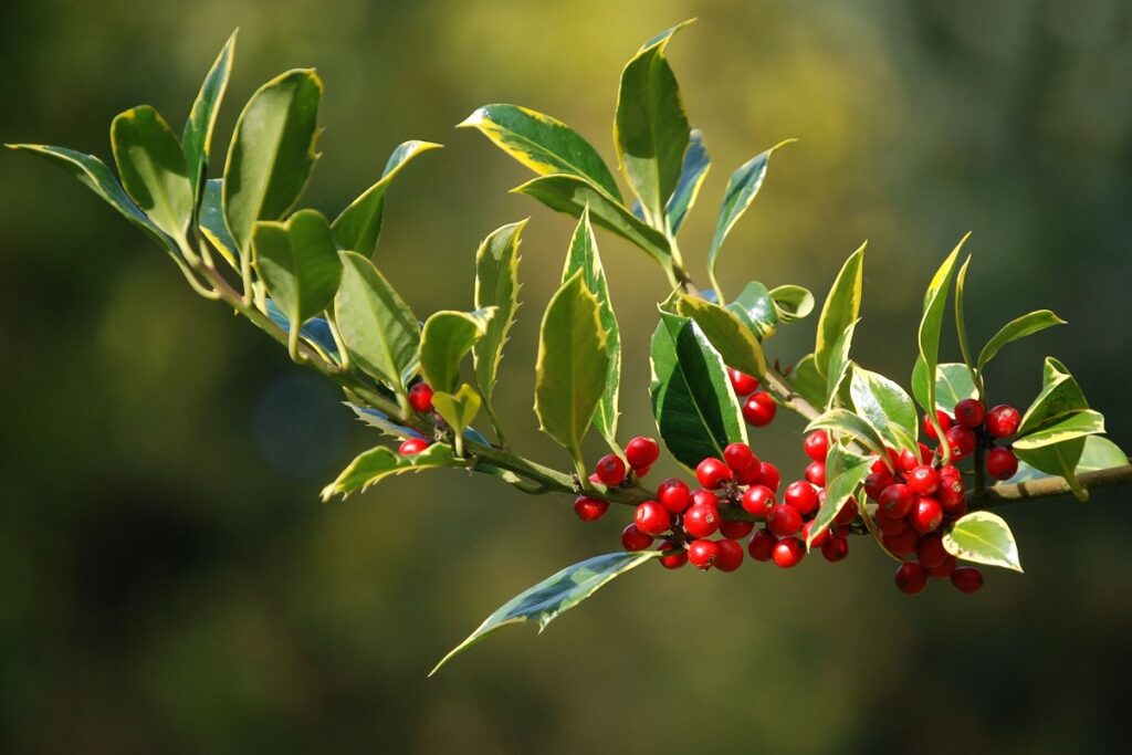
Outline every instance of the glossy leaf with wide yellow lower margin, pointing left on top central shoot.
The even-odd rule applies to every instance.
[[[621,200],[606,162],[577,131],[561,121],[518,105],[483,105],[456,128],[474,128],[539,175],[569,173]]]

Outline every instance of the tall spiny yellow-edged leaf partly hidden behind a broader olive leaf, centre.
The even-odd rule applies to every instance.
[[[574,238],[571,240],[569,251],[566,255],[566,266],[563,269],[563,282],[568,281],[577,271],[582,271],[585,286],[598,298],[601,328],[606,332],[606,354],[609,357],[606,389],[601,394],[601,401],[598,402],[593,424],[606,443],[619,453],[617,402],[621,386],[621,334],[617,327],[617,318],[614,316],[612,303],[609,301],[609,284],[606,281],[606,271],[601,266],[601,257],[598,254],[598,240],[593,237],[593,228],[590,225],[589,209],[582,213],[582,218],[574,231]]]

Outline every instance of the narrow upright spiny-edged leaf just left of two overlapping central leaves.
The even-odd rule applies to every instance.
[[[499,360],[518,310],[518,244],[526,221],[492,231],[475,252],[475,307],[496,308],[487,332],[475,344],[475,384],[489,407],[499,372]]]

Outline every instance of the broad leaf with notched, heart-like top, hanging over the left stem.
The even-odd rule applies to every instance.
[[[256,272],[291,325],[293,358],[299,328],[331,304],[342,280],[331,226],[318,211],[302,209],[285,223],[256,223],[251,246]]]

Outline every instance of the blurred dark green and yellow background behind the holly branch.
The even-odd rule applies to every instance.
[[[698,277],[727,174],[798,137],[728,243],[732,291],[824,292],[869,239],[855,353],[904,379],[923,286],[972,230],[976,342],[1039,307],[1070,320],[1012,345],[993,397],[1024,405],[1057,354],[1132,447],[1121,0],[8,0],[0,138],[109,157],[111,118],[152,103],[180,123],[240,26],[222,160],[259,83],[317,67],[309,205],[337,212],[403,139],[447,145],[398,179],[378,252],[418,314],[470,306],[478,241],[532,215],[497,395],[530,455],[565,465],[530,406],[572,222],[508,195],[524,169],[452,126],[522,103],[612,163],[621,65],[692,16],[671,58],[715,165],[683,235]],[[543,636],[506,629],[427,680],[505,599],[616,549],[626,512],[583,526],[565,497],[455,472],[321,505],[320,486],[376,438],[333,388],[194,297],[54,169],[0,158],[0,752],[1126,750],[1127,491],[1009,509],[1027,574],[993,572],[974,597],[936,583],[904,598],[864,540],[835,567],[644,567]],[[628,438],[652,428],[664,280],[599,241]],[[812,328],[784,331],[773,355],[797,359]],[[754,445],[797,474],[800,429],[782,417]]]

